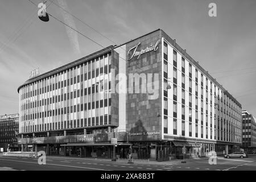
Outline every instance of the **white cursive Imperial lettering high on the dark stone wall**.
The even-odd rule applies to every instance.
[[[139,47],[139,45],[141,45],[141,43],[138,43],[137,46],[134,46],[129,49],[128,55],[131,55],[131,56],[128,58],[128,61],[130,61],[134,57],[137,57],[137,59],[139,59],[139,57],[141,55],[143,55],[144,53],[148,53],[151,51],[157,51],[159,43],[160,43],[160,39],[158,41],[156,41],[156,43],[154,45],[151,44],[149,47],[141,49],[141,51],[138,50],[138,47]]]

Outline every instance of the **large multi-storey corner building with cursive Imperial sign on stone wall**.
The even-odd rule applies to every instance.
[[[30,78],[18,92],[23,150],[110,158],[117,138],[122,158],[179,158],[183,146],[193,157],[242,142],[241,104],[162,30]]]

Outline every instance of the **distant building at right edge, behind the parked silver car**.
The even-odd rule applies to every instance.
[[[256,151],[256,118],[242,111],[242,147],[245,151]]]

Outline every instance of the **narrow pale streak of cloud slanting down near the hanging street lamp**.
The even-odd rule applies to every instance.
[[[68,10],[68,5],[65,2],[65,0],[57,0],[57,2],[59,3],[59,5],[64,9],[64,10]],[[71,15],[69,15],[68,13],[66,13],[65,11],[61,10],[61,14],[64,18],[64,22],[66,24],[68,24],[69,26],[71,26],[72,28],[76,29],[76,24],[72,18]],[[78,36],[77,36],[77,32],[75,32],[74,30],[72,30],[71,28],[65,26],[67,34],[68,34],[68,38],[69,41],[71,42],[71,46],[73,48],[73,51],[75,51],[76,54],[80,54],[80,46],[79,46],[79,41],[78,41]]]

